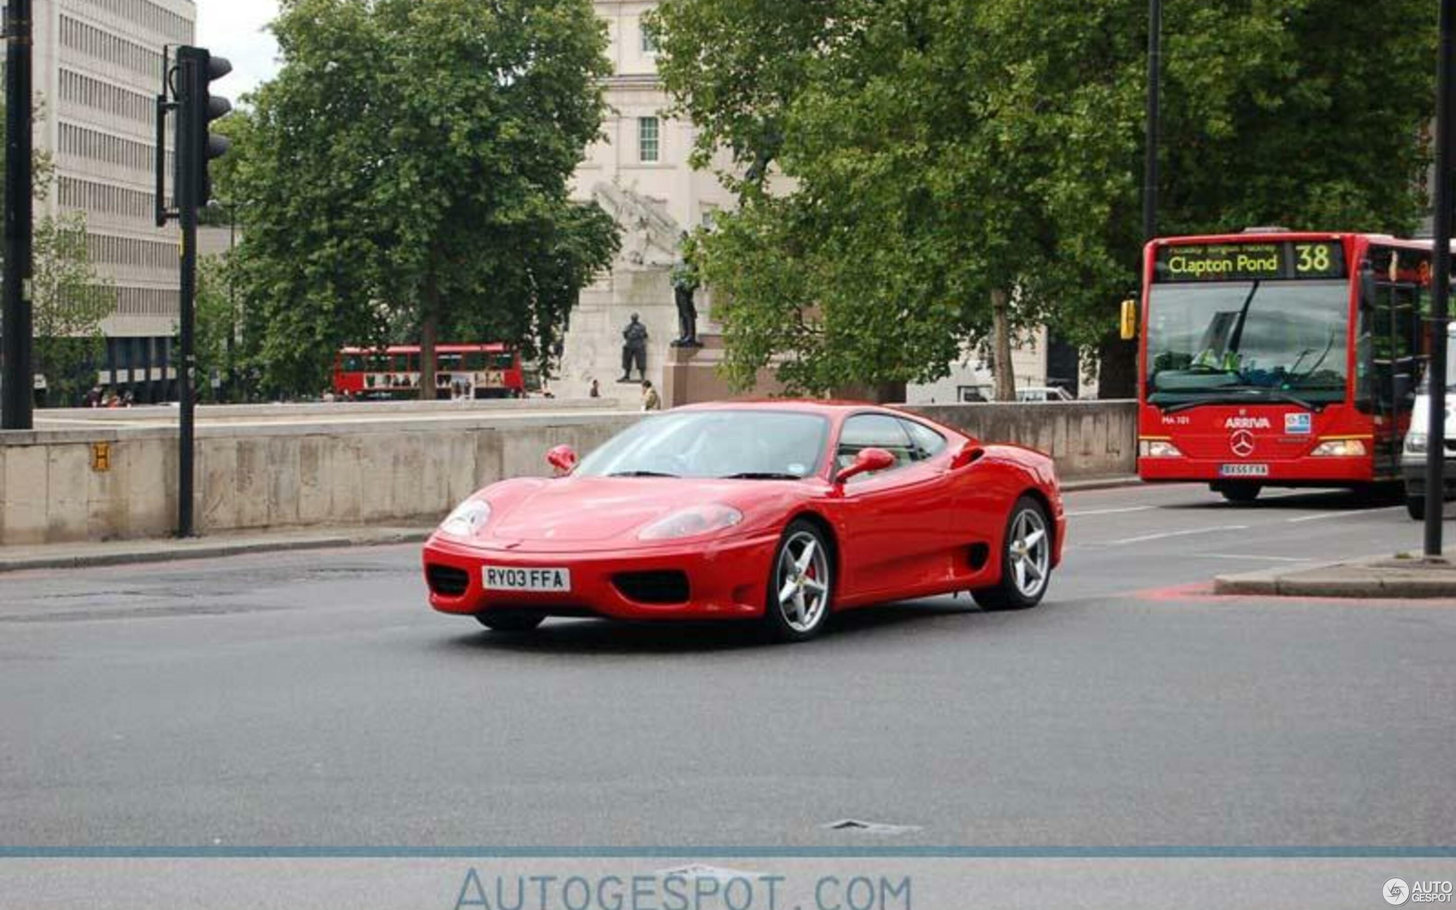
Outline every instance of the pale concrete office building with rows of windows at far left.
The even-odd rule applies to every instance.
[[[192,0],[33,0],[35,144],[55,160],[38,210],[84,213],[96,271],[116,288],[98,380],[138,400],[175,397],[175,226],[156,227],[156,95],[163,45],[192,44]],[[170,183],[170,156],[167,175]],[[39,211],[38,211],[39,214]]]

